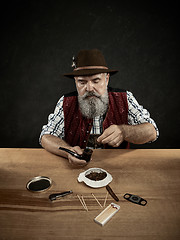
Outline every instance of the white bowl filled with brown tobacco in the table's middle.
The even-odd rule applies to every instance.
[[[100,188],[112,181],[112,176],[102,168],[89,168],[78,176],[78,182],[84,182],[92,188]]]

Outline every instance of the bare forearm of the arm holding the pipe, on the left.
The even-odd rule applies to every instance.
[[[42,136],[41,145],[48,152],[51,152],[53,154],[66,157],[66,158],[68,154],[64,151],[60,151],[59,147],[70,148],[70,146],[64,140],[50,134]]]

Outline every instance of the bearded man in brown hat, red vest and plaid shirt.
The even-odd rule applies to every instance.
[[[118,71],[107,67],[98,49],[81,50],[72,66],[73,72],[64,76],[75,80],[77,91],[63,95],[49,115],[40,135],[42,147],[71,164],[84,166],[85,160],[59,147],[82,154],[85,147],[129,148],[129,143],[157,139],[154,120],[133,94],[108,87],[110,76]]]

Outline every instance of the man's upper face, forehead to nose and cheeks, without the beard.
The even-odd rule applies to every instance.
[[[108,82],[109,74],[107,73],[75,77],[79,96],[83,96],[86,92],[94,92],[102,96],[107,91]]]

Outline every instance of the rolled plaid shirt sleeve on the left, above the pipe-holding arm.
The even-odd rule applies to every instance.
[[[41,138],[45,134],[51,134],[56,137],[64,137],[64,112],[63,112],[63,100],[62,96],[55,107],[54,113],[48,116],[48,123],[42,127],[42,131],[39,138],[41,144]]]

